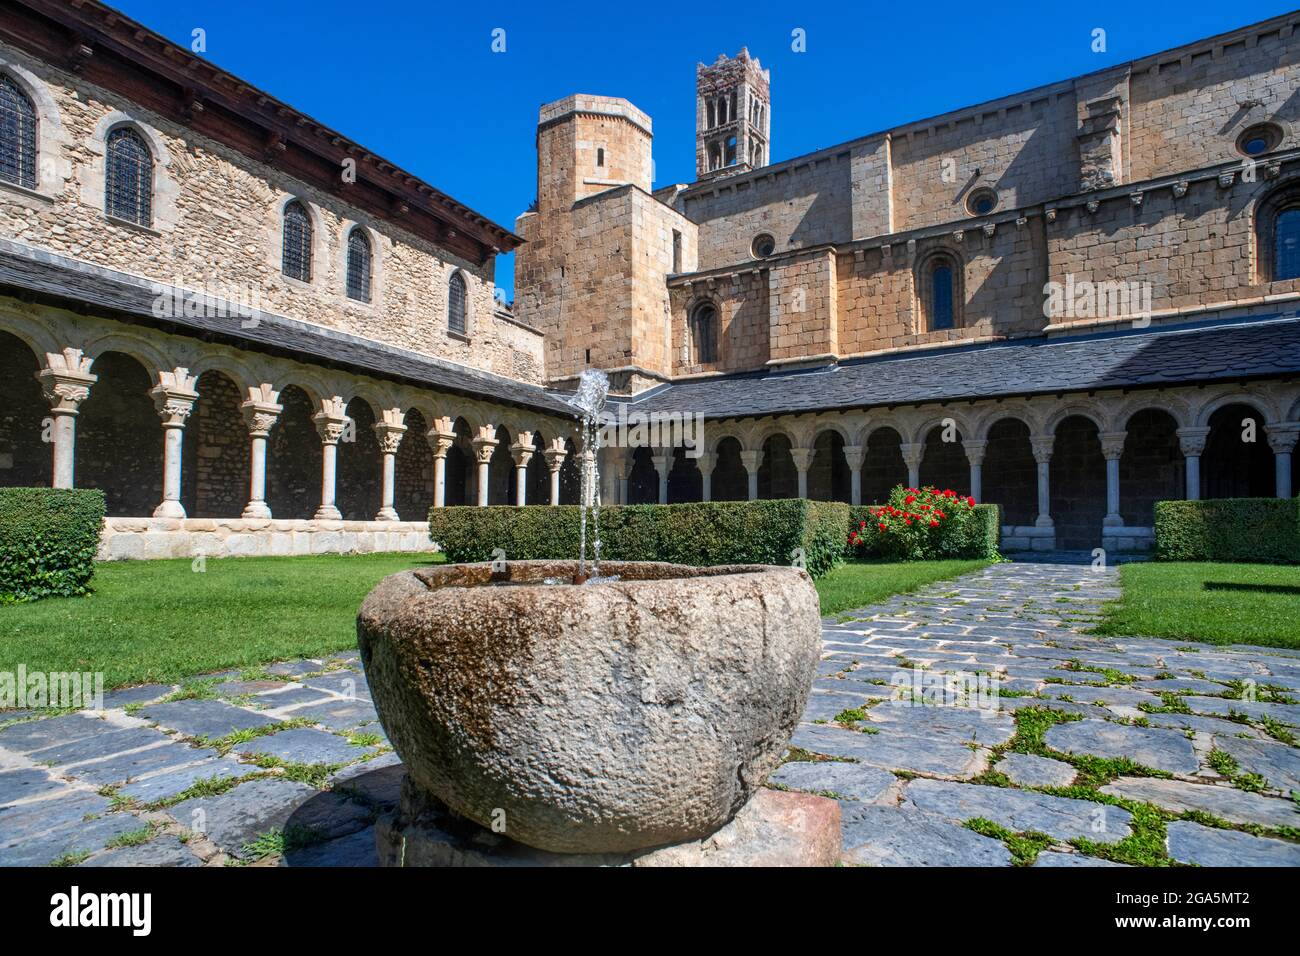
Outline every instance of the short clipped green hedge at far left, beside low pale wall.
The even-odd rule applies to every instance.
[[[0,604],[90,593],[104,493],[0,488]]]

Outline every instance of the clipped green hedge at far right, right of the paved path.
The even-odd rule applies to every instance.
[[[1300,499],[1158,501],[1156,557],[1297,564]]]

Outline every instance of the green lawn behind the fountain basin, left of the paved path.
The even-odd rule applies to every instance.
[[[88,597],[0,607],[0,672],[103,671],[104,687],[318,657],[356,646],[356,609],[385,575],[433,554],[108,562]],[[984,567],[854,562],[818,581],[836,614]]]

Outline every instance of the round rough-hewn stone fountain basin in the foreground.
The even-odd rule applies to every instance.
[[[416,786],[563,853],[696,840],[781,760],[820,649],[805,571],[606,562],[452,564],[385,578],[358,639]]]

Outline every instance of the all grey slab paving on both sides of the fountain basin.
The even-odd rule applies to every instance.
[[[1117,584],[996,564],[828,619],[771,786],[840,799],[853,864],[1300,865],[1300,652],[1083,633]],[[355,653],[104,708],[0,713],[0,865],[374,865],[402,766]]]

